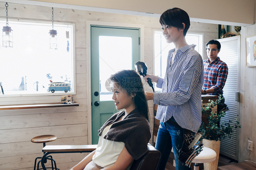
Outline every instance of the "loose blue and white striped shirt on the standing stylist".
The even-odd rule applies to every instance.
[[[177,50],[174,61],[168,53],[166,74],[159,77],[157,87],[162,93],[153,93],[153,103],[159,105],[156,118],[166,122],[172,116],[185,129],[197,132],[201,125],[201,89],[204,81],[203,60],[195,50],[196,45],[187,45]]]

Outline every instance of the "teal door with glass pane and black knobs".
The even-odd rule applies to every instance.
[[[122,69],[134,69],[140,59],[139,28],[91,26],[92,144],[100,127],[118,112],[108,78]]]

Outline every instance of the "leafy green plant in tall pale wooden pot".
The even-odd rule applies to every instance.
[[[223,103],[223,100],[224,98],[219,96],[216,101],[209,100],[208,106],[204,105],[202,107],[202,115],[205,115],[207,120],[202,121],[199,133],[202,134],[201,139],[203,139],[204,146],[213,149],[217,154],[215,161],[204,163],[204,169],[217,169],[221,139],[231,138],[234,128],[241,128],[237,120],[235,125],[230,124],[232,121],[220,123],[221,117],[224,117],[226,111],[229,110],[227,105]],[[213,113],[212,110],[216,106],[223,107],[223,109],[219,113]]]

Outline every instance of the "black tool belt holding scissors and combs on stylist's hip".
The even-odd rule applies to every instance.
[[[201,134],[197,134],[195,137],[192,133],[184,134],[184,141],[182,148],[179,150],[179,161],[186,166],[190,167],[193,159],[202,151],[203,143],[198,146]]]

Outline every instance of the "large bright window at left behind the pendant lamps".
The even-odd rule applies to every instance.
[[[0,20],[1,27],[5,24],[6,20]],[[2,47],[1,41],[0,82],[4,95],[0,96],[66,94],[64,90],[51,94],[51,82],[68,83],[71,88],[67,93],[74,94],[74,25],[54,23],[57,50],[49,49],[51,23],[9,21],[9,26],[13,30],[13,48]]]

